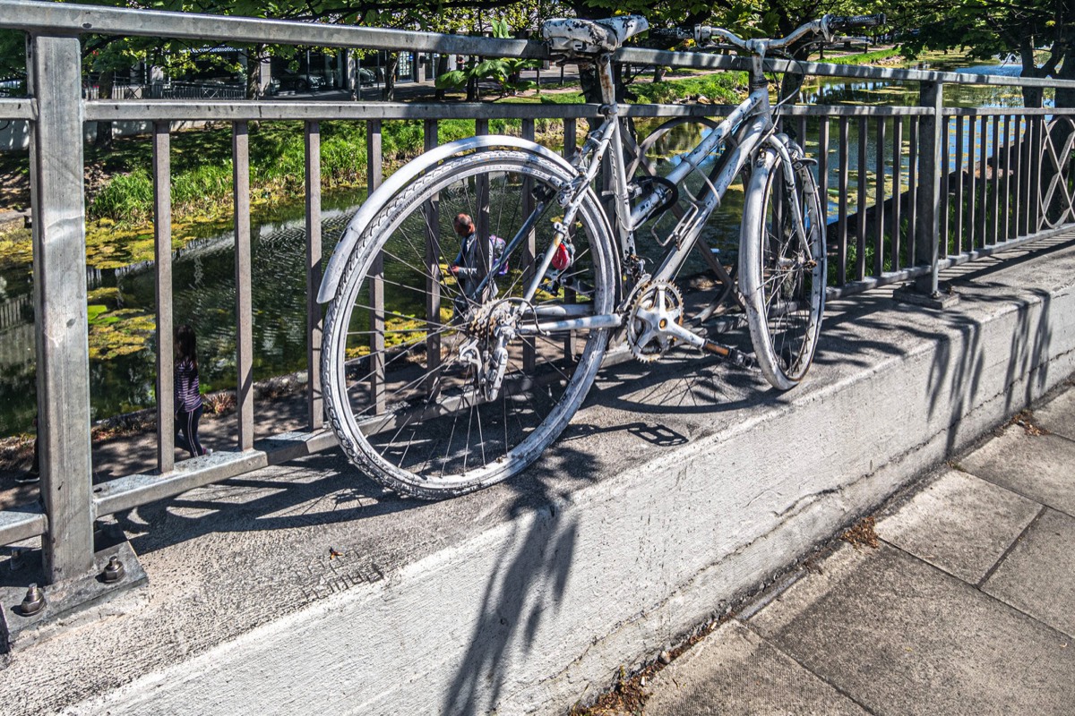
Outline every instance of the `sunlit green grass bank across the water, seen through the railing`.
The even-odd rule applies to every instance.
[[[716,102],[735,100],[745,78],[741,73],[674,77],[663,82],[631,85],[637,102],[674,102],[704,96]],[[567,90],[540,96],[511,98],[508,102],[574,104],[583,102],[582,92]],[[325,190],[359,187],[366,184],[366,122],[321,122],[321,185]],[[489,131],[518,135],[518,120],[491,120]],[[559,141],[560,120],[539,119],[539,141]],[[472,136],[472,120],[442,120],[438,127],[440,143]],[[386,121],[382,127],[385,173],[421,154],[424,146],[420,120]],[[258,207],[298,200],[303,195],[305,155],[303,126],[298,121],[252,123],[250,194]],[[112,151],[95,155],[87,161],[111,179],[87,205],[91,221],[114,222],[120,230],[144,227],[152,218],[152,146],[145,137],[117,140]],[[228,127],[206,127],[177,132],[172,137],[172,213],[184,222],[213,222],[230,217],[232,158]],[[112,230],[112,227],[106,227]],[[112,234],[113,239],[115,234]]]

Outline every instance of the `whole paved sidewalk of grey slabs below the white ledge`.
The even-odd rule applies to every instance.
[[[645,713],[1075,713],[1075,381],[891,500],[876,537],[658,672]]]

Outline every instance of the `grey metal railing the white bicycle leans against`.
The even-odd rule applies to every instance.
[[[320,122],[367,125],[368,184],[382,180],[382,129],[393,120],[424,121],[426,146],[435,146],[438,122],[471,119],[476,133],[490,119],[519,121],[524,137],[535,121],[563,121],[567,151],[576,146],[578,119],[596,105],[462,103],[109,101],[82,96],[77,33],[170,36],[213,42],[301,44],[438,52],[485,57],[547,59],[543,44],[374,28],[311,25],[241,17],[80,6],[32,0],[0,0],[0,27],[28,32],[29,94],[0,100],[0,120],[31,125],[31,194],[34,233],[34,312],[43,509],[0,511],[0,544],[41,535],[48,581],[82,579],[95,569],[97,517],[177,495],[267,465],[334,444],[322,427],[319,365]],[[635,65],[743,70],[744,60],[690,53],[621,49],[617,59]],[[783,72],[788,62],[769,61]],[[917,106],[791,106],[784,122],[826,151],[818,152],[823,195],[835,170],[838,200],[830,244],[835,262],[831,295],[846,295],[895,281],[916,280],[923,295],[937,292],[937,272],[984,253],[1048,236],[1075,223],[1071,138],[1057,146],[1072,109],[952,109],[944,106],[947,84],[1056,87],[1059,83],[957,73],[796,63],[812,75],[920,83]],[[1069,83],[1075,86],[1075,83]],[[633,117],[719,115],[713,106],[631,105]],[[84,189],[81,143],[85,121],[152,122],[155,188],[157,297],[157,471],[92,485],[85,273]],[[235,316],[235,450],[174,463],[172,406],[172,251],[170,200],[171,122],[213,120],[232,127]],[[300,120],[305,133],[306,316],[309,426],[302,433],[255,440],[253,401],[253,307],[250,297],[250,196],[248,122]],[[873,123],[878,150],[869,164],[866,136]],[[948,128],[954,128],[949,142]],[[809,130],[809,132],[807,132]],[[977,155],[970,140],[986,133]],[[851,136],[859,143],[857,210],[849,202]],[[993,148],[987,150],[987,144]],[[906,154],[905,154],[906,152]],[[904,157],[906,156],[906,163]],[[891,171],[886,169],[891,166]],[[872,173],[872,178],[869,178]],[[1043,179],[1044,177],[1044,179]],[[906,189],[904,189],[906,187]],[[872,202],[872,203],[871,203]]]

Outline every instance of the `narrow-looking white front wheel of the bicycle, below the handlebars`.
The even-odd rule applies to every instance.
[[[793,145],[792,157],[802,152]],[[798,219],[797,219],[798,216]],[[743,209],[740,281],[765,379],[786,391],[814,360],[825,311],[825,215],[809,167],[763,149]]]

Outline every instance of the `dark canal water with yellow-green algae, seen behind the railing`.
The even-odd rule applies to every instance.
[[[934,68],[948,69],[948,68]],[[998,71],[999,68],[969,68],[968,71]],[[1018,74],[1018,68],[1003,68]],[[877,82],[825,79],[804,88],[805,101],[818,104],[914,104],[917,85]],[[1018,106],[1021,97],[1015,88],[949,87],[948,104],[955,106]],[[664,167],[670,167],[679,152],[691,148],[702,132],[697,125],[686,125],[670,132],[656,148]],[[858,166],[857,123],[851,122],[850,166]],[[874,122],[868,127],[868,166],[875,166],[877,143]],[[836,126],[831,130],[829,151],[830,218],[835,216],[837,157]],[[976,134],[978,142],[983,134]],[[886,140],[891,154],[891,128]],[[909,132],[904,131],[904,141]],[[990,142],[991,137],[985,137]],[[955,142],[952,137],[950,142]],[[816,155],[817,123],[807,125],[808,154]],[[970,149],[970,146],[966,147]],[[987,147],[991,152],[991,148]],[[904,158],[907,152],[904,151]],[[955,157],[955,152],[950,152]],[[977,156],[977,155],[975,155]],[[904,159],[906,161],[906,159]],[[886,174],[893,166],[889,159]],[[851,172],[851,186],[858,177]],[[868,180],[873,180],[868,177]],[[906,181],[905,171],[903,181]],[[851,208],[855,210],[855,191]],[[322,228],[326,260],[340,234],[364,199],[360,192],[327,194]],[[726,252],[725,261],[734,259],[739,235],[742,191],[733,188],[720,214],[710,221],[707,239]],[[640,246],[646,243],[640,237]],[[253,228],[253,305],[254,305],[254,379],[305,369],[305,231],[303,207],[278,209],[275,215]],[[230,389],[235,384],[234,249],[227,228],[198,236],[175,251],[173,257],[174,321],[189,323],[198,335],[202,388],[206,391]],[[152,263],[131,264],[110,269],[90,269],[90,404],[95,420],[155,404],[155,350],[153,316],[155,308]],[[33,370],[34,337],[32,325],[32,283],[29,266],[0,271],[0,436],[29,430],[35,411]]]

